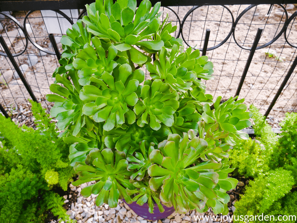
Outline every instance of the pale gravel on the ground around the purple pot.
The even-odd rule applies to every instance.
[[[73,200],[72,195],[64,195],[64,203],[65,206],[68,206],[67,214],[70,216],[71,219],[74,219],[77,223],[206,223],[205,220],[198,220],[200,213],[193,211],[189,211],[186,214],[178,214],[173,213],[172,215],[168,216],[162,220],[155,220],[150,221],[143,219],[142,217],[138,216],[134,213],[122,200],[119,200],[118,206],[116,208],[110,208],[108,204],[103,204],[102,206],[97,207],[95,205],[95,200],[97,195],[91,194],[90,197],[83,197],[80,192],[86,186],[91,184],[95,184],[95,181],[91,181],[88,183],[81,184],[79,187],[75,187],[70,184],[70,189],[77,194],[76,202],[69,202],[69,200]],[[228,215],[232,217],[233,211],[235,207],[233,206],[235,201],[237,200],[236,197],[233,195],[234,192],[243,187],[243,182],[239,182],[238,186],[235,190],[230,190],[230,202],[228,203],[230,212]],[[198,215],[198,219],[197,219]],[[211,208],[208,209],[207,212],[202,214],[203,216],[214,216],[214,213],[211,211]],[[218,217],[219,219],[220,217]],[[196,219],[196,220],[195,220]],[[60,219],[58,221],[51,221],[48,223],[64,223]],[[219,222],[219,221],[218,221]],[[227,221],[222,222],[231,222],[229,219]],[[211,218],[208,219],[208,223],[215,223],[212,221]]]

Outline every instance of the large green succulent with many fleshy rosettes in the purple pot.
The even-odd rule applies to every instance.
[[[47,99],[55,102],[61,137],[72,143],[73,185],[95,180],[81,194],[99,194],[96,205],[112,208],[124,198],[148,202],[151,213],[153,200],[160,211],[173,205],[179,213],[225,213],[225,192],[236,186],[227,179],[228,151],[235,138],[248,138],[240,130],[251,113],[237,97],[210,106],[200,79],[212,79],[212,62],[199,50],[184,51],[159,8],[148,0],[137,10],[136,0],[97,0],[61,39],[62,66]],[[138,69],[144,65],[151,80]]]

